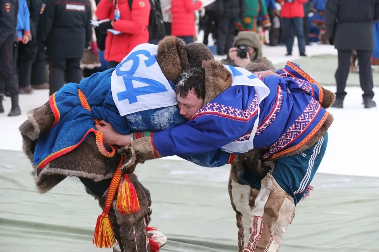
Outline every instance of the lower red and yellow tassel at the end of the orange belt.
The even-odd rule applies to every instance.
[[[111,248],[116,242],[112,222],[106,212],[109,213],[109,209],[104,209],[103,213],[97,217],[94,239],[92,241],[92,244],[95,244],[96,247],[100,248]]]

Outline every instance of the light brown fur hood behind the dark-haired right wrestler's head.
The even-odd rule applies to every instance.
[[[204,61],[202,67],[205,69],[204,106],[232,85],[232,75],[215,60]]]

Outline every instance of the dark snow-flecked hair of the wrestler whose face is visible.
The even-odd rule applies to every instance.
[[[184,71],[178,84],[176,84],[176,93],[182,98],[186,98],[188,92],[194,89],[193,93],[199,99],[205,98],[205,69],[195,67]]]

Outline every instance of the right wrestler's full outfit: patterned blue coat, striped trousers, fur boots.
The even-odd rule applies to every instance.
[[[333,121],[326,108],[335,96],[291,62],[277,71],[280,77],[262,78],[215,61],[203,68],[204,107],[186,124],[145,133],[120,152],[135,154],[133,160],[215,148],[235,153],[228,188],[239,251],[277,251],[295,205],[312,189]],[[218,92],[209,92],[215,86]],[[133,160],[125,171],[134,170]]]

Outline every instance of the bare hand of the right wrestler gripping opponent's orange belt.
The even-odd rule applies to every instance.
[[[112,125],[104,120],[99,121],[104,126],[95,125],[96,130],[104,134],[104,143],[107,145],[127,146],[132,142],[130,135],[123,135],[114,130]]]

